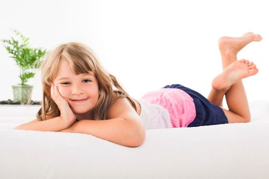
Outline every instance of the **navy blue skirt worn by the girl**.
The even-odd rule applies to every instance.
[[[188,125],[188,127],[228,123],[228,119],[225,116],[224,111],[221,109],[221,107],[210,102],[208,99],[206,99],[200,93],[194,91],[193,89],[182,86],[180,84],[166,85],[163,88],[178,88],[186,92],[193,98],[196,110],[196,117]]]

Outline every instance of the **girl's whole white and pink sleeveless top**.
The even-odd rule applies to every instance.
[[[137,101],[145,129],[187,127],[196,116],[193,98],[178,88],[160,88]]]

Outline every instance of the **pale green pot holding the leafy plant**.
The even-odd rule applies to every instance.
[[[14,101],[20,101],[21,104],[27,104],[31,101],[32,89],[31,85],[12,85]]]

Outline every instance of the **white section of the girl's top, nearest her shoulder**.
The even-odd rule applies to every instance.
[[[141,105],[140,117],[146,130],[172,128],[167,109],[157,104],[151,104],[146,99],[138,99],[137,101]]]

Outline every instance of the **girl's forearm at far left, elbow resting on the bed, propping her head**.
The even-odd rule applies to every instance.
[[[61,119],[61,117],[56,117],[56,118],[48,119],[45,121],[28,122],[28,123],[19,125],[15,127],[14,129],[57,132],[67,127],[68,125],[64,123],[64,120]]]

